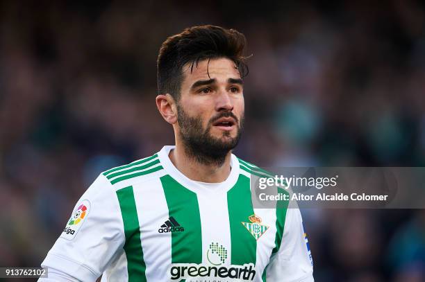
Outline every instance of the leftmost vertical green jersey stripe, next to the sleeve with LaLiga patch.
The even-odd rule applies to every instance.
[[[140,224],[135,206],[133,186],[118,190],[117,197],[119,207],[121,208],[124,233],[126,236],[124,251],[127,257],[128,281],[146,281],[146,264],[143,259],[143,249],[140,241]]]

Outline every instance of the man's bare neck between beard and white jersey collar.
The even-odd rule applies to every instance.
[[[231,151],[222,164],[199,161],[186,152],[182,143],[176,142],[176,148],[169,152],[169,159],[183,175],[199,182],[224,182],[231,172]]]

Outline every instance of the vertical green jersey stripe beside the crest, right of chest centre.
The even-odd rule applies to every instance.
[[[250,222],[249,215],[253,215],[251,202],[251,188],[249,178],[239,175],[238,182],[227,193],[228,220],[231,229],[231,263],[243,265],[256,264],[257,240],[242,222]]]

